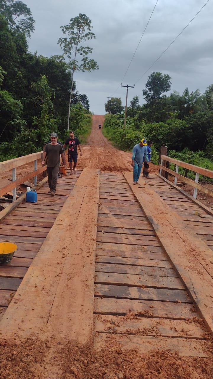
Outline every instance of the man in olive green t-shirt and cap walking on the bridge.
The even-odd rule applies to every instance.
[[[57,179],[58,179],[58,170],[60,166],[60,155],[63,161],[63,164],[66,168],[66,159],[64,155],[63,147],[57,142],[58,135],[52,133],[50,135],[51,143],[48,143],[42,154],[42,166],[45,165],[45,158],[47,156],[47,175],[48,175],[48,184],[50,190],[48,193],[54,196],[56,191]]]

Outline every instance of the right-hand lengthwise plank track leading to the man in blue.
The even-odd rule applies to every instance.
[[[213,287],[213,267],[209,265],[212,251],[196,233],[192,230],[189,233],[185,222],[177,217],[162,200],[159,201],[158,194],[149,185],[141,192],[136,186],[131,185],[129,173],[125,172],[124,175],[164,250],[191,293],[208,330],[213,334],[213,298],[207,295],[211,293]]]

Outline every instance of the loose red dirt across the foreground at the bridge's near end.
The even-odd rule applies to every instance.
[[[180,357],[169,351],[125,351],[113,343],[113,337],[101,351],[74,341],[63,344],[33,338],[20,345],[1,341],[0,349],[2,379],[212,379],[213,373],[212,346],[208,358]],[[50,350],[52,365],[57,367],[54,376],[46,365]]]

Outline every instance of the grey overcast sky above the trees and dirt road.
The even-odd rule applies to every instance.
[[[61,55],[57,44],[62,36],[60,26],[72,17],[85,13],[92,20],[96,39],[87,45],[94,50],[91,58],[99,70],[91,74],[75,73],[77,90],[86,94],[90,110],[105,114],[108,96],[121,97],[125,105],[126,89],[121,80],[143,34],[157,0],[23,0],[36,21],[29,40],[29,50],[44,56]],[[128,69],[123,84],[133,85],[164,49],[193,18],[206,0],[158,0],[146,32]],[[181,94],[199,88],[204,92],[213,83],[213,0],[210,0],[166,53],[146,75],[128,91],[128,104],[133,96],[144,102],[142,91],[152,71],[169,74],[171,92]],[[117,89],[117,87],[119,87]],[[117,89],[117,91],[116,91]],[[116,91],[116,92],[115,92]]]

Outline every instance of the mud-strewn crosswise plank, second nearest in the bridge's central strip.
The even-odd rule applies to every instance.
[[[202,339],[204,330],[198,323],[184,320],[155,319],[138,317],[124,319],[119,316],[94,315],[94,330],[104,333],[137,334],[140,336],[185,337]]]

